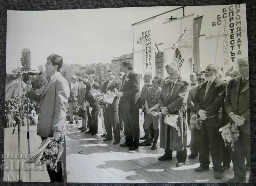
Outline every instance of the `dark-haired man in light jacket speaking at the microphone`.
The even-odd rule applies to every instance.
[[[28,97],[40,104],[39,118],[37,123],[37,134],[42,140],[52,137],[60,143],[64,140],[62,146],[64,151],[60,161],[57,164],[58,171],[47,167],[51,182],[67,182],[66,174],[66,142],[65,136],[61,137],[61,131],[64,130],[66,119],[69,86],[68,81],[60,74],[63,64],[63,58],[60,55],[52,54],[47,57],[45,66],[46,74],[51,76],[45,84],[41,95],[36,94],[32,89],[31,82],[28,83]],[[61,137],[61,138],[60,138]]]

